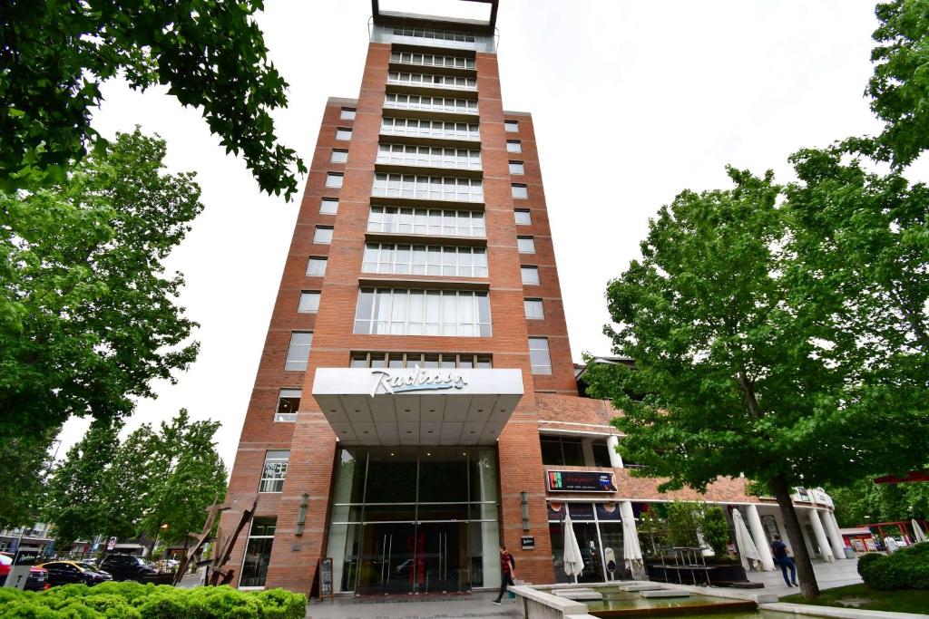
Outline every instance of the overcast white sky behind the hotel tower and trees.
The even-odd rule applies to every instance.
[[[389,7],[398,3],[432,4]],[[575,360],[609,353],[608,279],[638,256],[648,218],[677,192],[727,187],[726,163],[784,180],[795,149],[876,132],[863,97],[873,4],[501,1],[504,109],[534,117]],[[358,96],[371,5],[267,5],[258,22],[290,83],[278,135],[308,162],[326,97]],[[200,358],[177,385],[159,384],[128,428],[186,406],[193,419],[222,421],[219,451],[231,467],[297,204],[259,193],[200,113],[164,90],[113,82],[103,94],[96,128],[112,135],[140,124],[162,135],[170,169],[196,171],[206,205],[169,264],[187,277],[181,303],[202,325]],[[86,425],[66,426],[61,455]]]

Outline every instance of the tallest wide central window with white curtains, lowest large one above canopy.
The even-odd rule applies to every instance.
[[[491,336],[491,301],[480,290],[362,288],[355,333]]]

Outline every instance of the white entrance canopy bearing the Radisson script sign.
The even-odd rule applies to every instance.
[[[492,445],[519,369],[318,368],[313,397],[342,445]]]

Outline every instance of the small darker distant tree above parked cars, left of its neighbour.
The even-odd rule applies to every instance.
[[[108,530],[112,516],[109,471],[116,458],[119,431],[119,423],[91,424],[52,473],[44,519],[54,523],[59,546],[93,539]]]

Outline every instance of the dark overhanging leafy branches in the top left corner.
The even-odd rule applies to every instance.
[[[200,108],[227,152],[242,153],[259,187],[288,200],[294,150],[275,145],[270,111],[287,83],[255,24],[262,0],[112,2],[10,0],[0,8],[0,189],[63,182],[104,142],[91,127],[99,86],[122,74],[136,90],[162,84]]]

